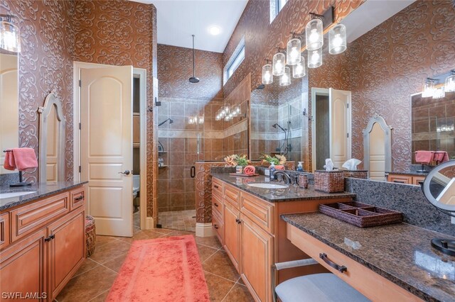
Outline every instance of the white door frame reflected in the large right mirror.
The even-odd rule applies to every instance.
[[[333,88],[332,88],[333,89]],[[348,101],[348,158],[352,156],[352,93],[351,91],[335,89],[338,91],[348,92],[349,93],[349,101]],[[328,88],[311,88],[311,169],[313,172],[316,170],[316,95],[319,96],[329,96],[329,89]],[[331,101],[330,99],[328,100]],[[331,129],[332,119],[329,118],[329,130]],[[331,147],[332,142],[330,142]],[[340,167],[338,167],[340,168]]]

